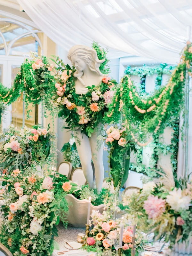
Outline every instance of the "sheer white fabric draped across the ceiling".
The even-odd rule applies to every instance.
[[[192,25],[192,0],[18,0],[65,50],[99,42],[113,57],[144,56],[175,64]]]

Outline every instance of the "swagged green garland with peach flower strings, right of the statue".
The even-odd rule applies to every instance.
[[[152,138],[144,143],[139,141],[146,139],[144,134],[146,135],[147,132],[162,133],[167,121],[171,116],[175,116],[175,113],[179,115],[183,106],[186,68],[191,75],[191,49],[191,43],[188,42],[180,63],[172,72],[168,84],[159,88],[153,95],[140,97],[130,77],[124,76],[117,88],[113,102],[109,106],[106,122],[118,123],[122,112],[123,120],[127,128],[130,129],[132,139],[139,146],[145,146],[152,141]]]

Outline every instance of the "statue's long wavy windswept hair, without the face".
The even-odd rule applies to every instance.
[[[75,66],[71,60],[72,56],[78,56],[80,59],[85,61],[85,63],[89,66],[91,71],[95,71],[100,76],[103,75],[100,72],[99,67],[100,63],[103,63],[105,59],[99,60],[97,57],[97,52],[94,49],[84,45],[74,45],[73,47],[71,47],[67,57],[71,61],[72,65]],[[74,76],[83,76],[83,71],[75,71]]]

